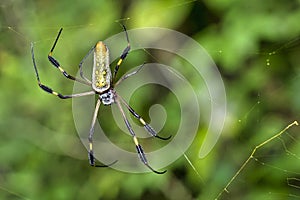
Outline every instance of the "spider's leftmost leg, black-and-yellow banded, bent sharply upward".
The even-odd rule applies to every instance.
[[[34,67],[34,71],[35,71],[35,75],[36,75],[38,85],[45,92],[53,94],[53,95],[55,95],[55,96],[57,96],[61,99],[68,99],[68,98],[73,98],[73,97],[81,97],[81,96],[87,96],[87,95],[95,94],[94,91],[89,91],[89,92],[82,92],[82,93],[78,93],[78,94],[63,95],[63,94],[60,94],[58,92],[53,91],[51,88],[49,88],[48,86],[42,84],[41,81],[40,81],[39,73],[38,73],[36,63],[35,63],[35,58],[34,58],[33,43],[31,43],[31,55],[32,55],[33,67]]]

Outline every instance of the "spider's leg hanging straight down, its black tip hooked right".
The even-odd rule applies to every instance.
[[[100,105],[101,105],[101,100],[100,100],[100,98],[98,98],[97,103],[96,103],[96,107],[95,107],[95,111],[94,111],[94,115],[93,115],[93,119],[92,119],[89,138],[88,138],[88,140],[89,140],[88,158],[89,158],[90,165],[93,166],[93,167],[109,167],[110,165],[113,165],[117,161],[114,161],[109,165],[97,165],[95,163],[95,157],[94,157],[94,151],[93,151],[93,135],[94,135],[94,132],[95,132],[95,123],[96,123],[96,119],[97,119],[97,116],[98,116],[98,111],[99,111]]]

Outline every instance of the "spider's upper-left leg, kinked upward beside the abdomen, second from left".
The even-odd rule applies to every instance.
[[[78,81],[78,82],[83,83],[83,84],[86,84],[86,85],[91,85],[90,82],[88,82],[88,81],[86,81],[86,80],[81,80],[81,79],[78,79],[78,78],[76,78],[76,77],[74,77],[74,76],[68,74],[68,73],[61,67],[61,65],[59,64],[59,62],[52,56],[53,51],[54,51],[54,48],[55,48],[55,46],[56,46],[56,44],[57,44],[57,41],[58,41],[58,39],[59,39],[59,37],[60,37],[60,35],[61,35],[62,30],[63,30],[63,29],[61,28],[61,29],[59,30],[59,32],[58,32],[58,35],[57,35],[57,37],[56,37],[56,39],[55,39],[55,41],[54,41],[54,44],[53,44],[53,46],[52,46],[52,48],[51,48],[51,50],[50,50],[50,52],[49,52],[49,54],[48,54],[48,60],[50,61],[50,63],[51,63],[53,66],[55,66],[57,69],[59,69],[59,71],[60,71],[66,78],[71,79],[71,80],[74,80],[74,81]]]

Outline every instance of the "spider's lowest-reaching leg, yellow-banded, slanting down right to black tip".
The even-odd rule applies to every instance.
[[[136,135],[135,135],[135,133],[134,133],[134,131],[133,131],[133,129],[132,129],[132,127],[131,127],[129,121],[128,121],[128,119],[126,118],[125,113],[124,113],[124,110],[123,110],[123,108],[122,108],[122,106],[121,106],[121,104],[120,104],[120,102],[119,102],[118,99],[116,99],[116,103],[117,103],[117,105],[118,105],[118,107],[119,107],[119,110],[120,110],[120,112],[121,112],[121,114],[122,114],[122,117],[123,117],[123,120],[124,120],[124,122],[125,122],[125,125],[126,125],[127,129],[129,130],[129,132],[130,132],[132,138],[133,138],[133,142],[134,142],[134,144],[135,144],[135,146],[136,146],[136,150],[137,150],[137,153],[138,153],[138,155],[139,155],[140,160],[141,160],[141,161],[144,163],[144,165],[146,165],[152,172],[154,172],[154,173],[156,173],[156,174],[164,174],[164,173],[166,172],[166,170],[165,170],[165,171],[162,171],[162,172],[156,171],[156,170],[154,170],[154,169],[149,165],[148,160],[147,160],[147,158],[146,158],[146,155],[145,155],[145,153],[144,153],[144,150],[143,150],[142,146],[139,144],[138,139],[137,139],[137,137],[136,137]]]

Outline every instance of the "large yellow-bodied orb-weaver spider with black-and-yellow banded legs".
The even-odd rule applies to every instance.
[[[59,71],[68,79],[71,79],[73,81],[77,81],[80,83],[83,83],[85,85],[88,85],[91,87],[91,91],[88,92],[83,92],[83,93],[77,93],[77,94],[71,94],[71,95],[63,95],[61,93],[55,92],[53,91],[51,88],[49,88],[46,85],[43,85],[40,81],[40,77],[38,74],[38,70],[36,67],[36,62],[35,62],[35,58],[34,58],[34,51],[33,51],[33,43],[31,43],[31,55],[32,55],[32,62],[33,62],[33,67],[35,70],[35,74],[36,74],[36,78],[37,78],[37,82],[39,87],[44,90],[47,93],[53,94],[61,99],[68,99],[68,98],[73,98],[73,97],[82,97],[82,96],[87,96],[87,95],[98,95],[98,100],[96,102],[96,107],[94,110],[94,114],[93,114],[93,119],[92,119],[92,123],[91,123],[91,127],[90,127],[90,131],[89,131],[89,136],[88,136],[88,141],[89,141],[89,152],[88,152],[88,159],[89,159],[89,163],[91,166],[94,167],[107,167],[109,165],[97,165],[95,163],[95,157],[94,157],[94,153],[93,153],[93,134],[94,134],[94,126],[97,120],[97,116],[98,116],[98,111],[100,108],[100,104],[101,102],[104,105],[111,105],[113,103],[116,103],[121,115],[123,117],[123,120],[125,122],[125,125],[127,127],[127,129],[129,130],[132,138],[133,138],[133,142],[136,146],[136,150],[137,153],[139,155],[140,160],[144,163],[144,165],[146,165],[151,171],[157,173],[157,174],[163,174],[166,172],[165,171],[156,171],[154,170],[148,163],[147,158],[145,156],[145,153],[143,151],[142,146],[139,144],[138,139],[125,115],[125,112],[122,108],[123,104],[128,110],[129,112],[135,117],[137,118],[140,123],[144,126],[144,128],[154,137],[157,137],[159,139],[162,140],[168,140],[170,139],[171,136],[167,137],[167,138],[163,138],[157,135],[156,131],[148,124],[144,121],[144,119],[138,114],[136,113],[132,107],[121,97],[116,93],[116,90],[114,89],[115,86],[117,86],[118,84],[120,84],[123,80],[127,79],[128,77],[136,74],[142,67],[143,65],[141,65],[136,71],[131,72],[129,74],[126,74],[124,76],[122,76],[116,83],[115,83],[115,79],[116,79],[116,75],[117,72],[119,70],[119,67],[121,65],[121,63],[123,62],[123,60],[126,58],[127,54],[130,51],[130,42],[129,42],[129,37],[128,37],[128,33],[126,31],[126,28],[124,25],[123,29],[126,35],[126,40],[127,40],[127,47],[123,50],[119,61],[117,62],[117,65],[115,66],[114,69],[114,73],[112,75],[111,70],[110,70],[110,63],[109,63],[109,50],[107,48],[107,46],[102,42],[99,41],[96,43],[96,45],[94,47],[91,48],[91,50],[85,55],[85,57],[82,59],[82,61],[79,63],[79,70],[80,70],[80,76],[82,79],[80,78],[76,78],[70,74],[68,74],[60,65],[60,63],[52,56],[54,48],[57,44],[57,41],[61,35],[62,32],[62,28],[59,30],[59,33],[54,41],[54,44],[48,54],[48,59],[50,61],[50,63],[59,69]],[[94,53],[94,63],[93,63],[93,70],[92,70],[92,81],[90,81],[88,78],[86,78],[83,74],[83,70],[82,70],[82,65],[85,61],[85,59],[91,54]],[[113,163],[112,163],[113,164]]]

